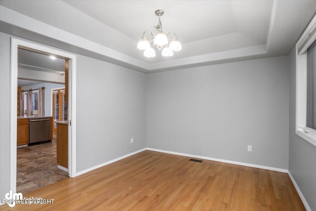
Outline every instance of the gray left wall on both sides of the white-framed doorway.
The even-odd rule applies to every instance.
[[[0,33],[1,199],[10,188],[10,37]],[[145,86],[143,73],[77,55],[77,172],[146,147]]]

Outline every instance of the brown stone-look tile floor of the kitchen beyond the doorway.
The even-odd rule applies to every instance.
[[[56,133],[51,142],[17,148],[16,191],[25,194],[67,178],[57,165]]]

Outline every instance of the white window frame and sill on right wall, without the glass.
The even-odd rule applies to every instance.
[[[306,127],[307,48],[316,40],[316,15],[296,43],[296,134],[316,146],[316,130]]]

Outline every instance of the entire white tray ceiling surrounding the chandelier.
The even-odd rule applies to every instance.
[[[315,0],[1,0],[0,5],[112,49],[104,56],[145,73],[288,55],[316,14]],[[146,58],[136,48],[145,30],[154,32],[156,9],[165,11],[163,31],[175,32],[182,43],[173,57]],[[4,15],[1,21],[9,22]]]

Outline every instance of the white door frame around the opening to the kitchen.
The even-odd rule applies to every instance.
[[[16,147],[17,147],[17,76],[18,76],[18,47],[35,49],[52,55],[69,58],[68,99],[68,172],[70,177],[76,176],[76,73],[77,56],[61,50],[42,46],[40,44],[11,38],[11,129],[10,129],[10,190],[16,192]]]

